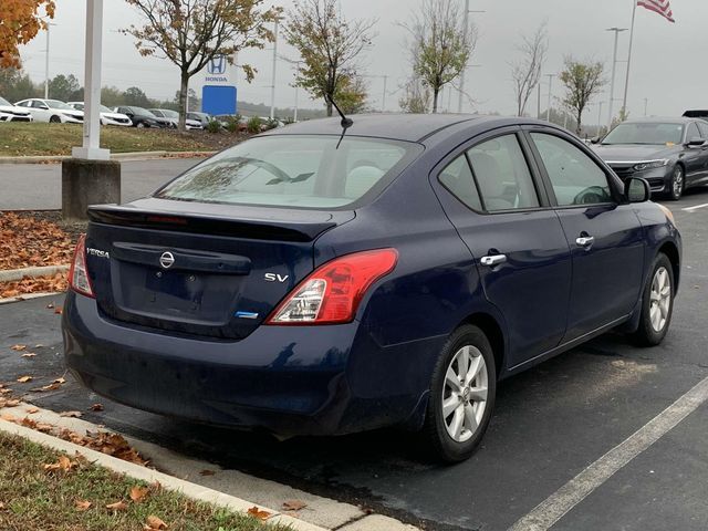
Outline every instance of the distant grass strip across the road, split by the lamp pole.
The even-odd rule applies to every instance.
[[[71,155],[81,146],[83,128],[77,124],[3,123],[0,124],[0,156]],[[232,146],[242,134],[177,132],[174,129],[138,129],[135,127],[101,127],[101,147],[113,153],[128,152],[208,152]]]

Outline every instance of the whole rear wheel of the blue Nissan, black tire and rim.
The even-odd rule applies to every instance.
[[[458,462],[472,455],[489,425],[496,391],[489,340],[477,326],[460,326],[442,346],[430,379],[421,435],[434,458]]]

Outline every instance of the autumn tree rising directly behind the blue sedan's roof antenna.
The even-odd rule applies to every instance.
[[[371,45],[376,23],[375,19],[350,22],[337,4],[336,0],[296,1],[284,28],[288,43],[300,52],[303,63],[295,85],[313,98],[323,98],[327,116],[332,116],[332,98],[361,95],[356,60]]]

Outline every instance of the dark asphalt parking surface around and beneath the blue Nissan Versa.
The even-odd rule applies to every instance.
[[[708,406],[701,399],[615,473],[590,488],[573,480],[605,466],[610,450],[648,423],[655,426],[662,412],[708,377],[708,187],[666,205],[684,238],[681,285],[666,341],[646,350],[608,334],[503,382],[482,447],[460,465],[427,461],[414,438],[396,430],[279,442],[110,404],[72,379],[27,398],[49,409],[86,412],[88,420],[175,451],[430,530],[506,530],[516,523],[538,530],[702,531]],[[63,373],[59,315],[49,302],[61,305],[61,298],[0,306],[0,382],[32,374],[44,385]],[[15,343],[44,346],[34,348],[38,356],[21,358],[9,348]],[[95,402],[105,409],[87,412]],[[565,493],[570,498],[560,496]],[[573,502],[564,506],[568,499]],[[533,523],[528,517],[553,510],[558,521]]]

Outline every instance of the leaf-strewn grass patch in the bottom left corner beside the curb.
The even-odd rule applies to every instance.
[[[73,457],[71,469],[46,471],[45,465],[59,464],[62,454],[21,437],[0,433],[0,456],[3,531],[135,531],[150,529],[145,527],[150,517],[164,521],[168,531],[290,529],[267,525],[250,516],[197,502]],[[132,489],[142,493],[138,501],[132,500]],[[106,509],[119,501],[124,509]],[[87,508],[86,502],[91,503]]]

